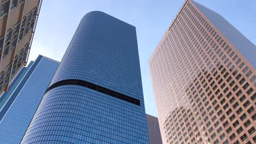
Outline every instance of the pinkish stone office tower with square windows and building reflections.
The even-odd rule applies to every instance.
[[[255,143],[256,46],[185,1],[149,59],[163,143]]]

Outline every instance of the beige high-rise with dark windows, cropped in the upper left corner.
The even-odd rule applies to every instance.
[[[0,0],[0,95],[27,64],[42,0]]]

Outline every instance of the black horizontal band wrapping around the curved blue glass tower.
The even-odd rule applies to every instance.
[[[58,81],[58,82],[54,83],[53,85],[51,85],[50,87],[48,87],[46,89],[45,93],[47,93],[48,91],[50,91],[51,89],[53,89],[55,87],[65,86],[65,85],[77,85],[77,86],[87,87],[94,91],[101,92],[101,93],[110,95],[112,97],[115,97],[115,98],[118,98],[121,100],[125,100],[129,103],[139,105],[139,106],[141,105],[141,102],[138,99],[129,97],[125,94],[121,94],[121,93],[112,91],[111,89],[108,89],[108,88],[104,88],[104,87],[95,85],[94,83],[91,83],[88,81],[76,80],[76,79]]]

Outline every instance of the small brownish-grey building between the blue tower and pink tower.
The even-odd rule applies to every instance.
[[[158,118],[146,114],[149,144],[162,144]]]

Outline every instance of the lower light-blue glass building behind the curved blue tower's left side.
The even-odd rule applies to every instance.
[[[59,65],[38,56],[23,67],[0,97],[0,143],[20,143]]]

